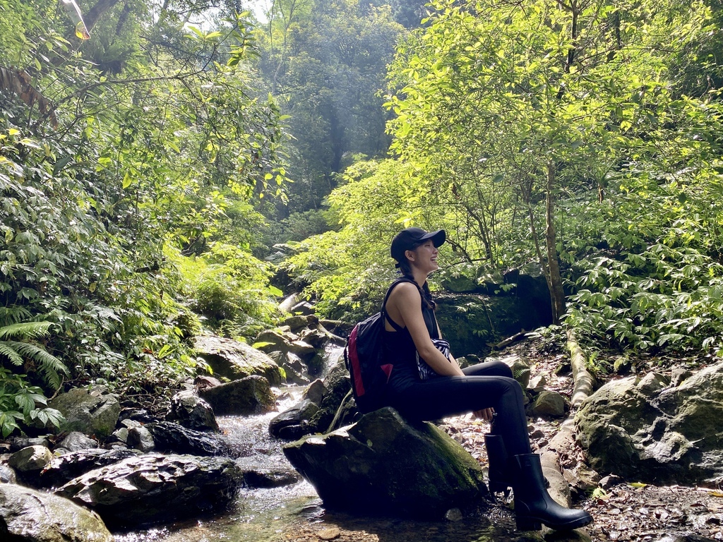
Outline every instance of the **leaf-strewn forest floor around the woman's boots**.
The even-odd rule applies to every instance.
[[[568,371],[560,371],[567,364],[567,353],[546,341],[527,338],[522,342],[495,353],[497,356],[518,354],[531,364],[531,376],[543,375],[545,389],[560,392],[570,397],[572,377]],[[638,371],[639,372],[639,371]],[[561,419],[529,418],[530,436],[534,450],[544,447],[554,436],[562,423]],[[487,465],[484,451],[484,434],[489,426],[471,416],[448,418],[442,429],[466,448],[480,463]],[[572,537],[562,533],[542,531],[544,540],[591,540],[629,542],[705,542],[723,540],[723,492],[720,488],[689,486],[654,486],[637,480],[622,480],[609,477],[602,480],[602,486],[594,494],[600,476],[592,472],[585,463],[583,450],[570,449],[560,457],[560,465],[567,472],[573,494],[573,505],[583,507],[594,517],[594,522],[578,530]],[[497,513],[494,508],[497,507]],[[502,504],[495,505],[487,517],[497,515],[497,520],[511,522],[512,515]],[[492,520],[494,521],[494,519]],[[448,522],[449,523],[449,522]],[[511,524],[513,525],[513,523]],[[429,535],[429,525],[417,530],[416,535],[404,528],[397,535],[391,535],[390,528],[356,527],[351,520],[334,520],[331,515],[322,522],[296,525],[286,530],[283,540],[288,542],[313,542],[333,540],[336,542],[426,542],[444,540],[445,535]],[[420,528],[422,525],[420,525]],[[447,530],[446,539],[455,542],[473,542],[478,537],[474,531],[465,534],[463,529],[447,528],[440,525],[433,528],[441,535]],[[514,532],[514,530],[512,529]],[[422,532],[427,533],[422,535]],[[470,538],[471,537],[471,538]],[[537,538],[539,539],[539,538]],[[482,540],[482,538],[479,538]],[[501,538],[499,540],[502,540]],[[530,541],[522,535],[505,537],[508,541]]]

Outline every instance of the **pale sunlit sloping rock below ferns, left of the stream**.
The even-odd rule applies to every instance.
[[[281,384],[281,371],[273,359],[246,343],[215,335],[201,335],[196,338],[195,348],[213,369],[213,374],[231,380],[257,375],[267,379],[273,386]]]

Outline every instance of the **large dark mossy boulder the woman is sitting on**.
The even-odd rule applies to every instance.
[[[392,408],[283,452],[330,509],[442,517],[484,496],[482,469],[432,423],[411,425]]]

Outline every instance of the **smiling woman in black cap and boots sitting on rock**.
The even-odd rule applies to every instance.
[[[474,412],[492,422],[485,436],[491,491],[511,486],[519,530],[542,524],[570,530],[592,521],[585,510],[557,504],[547,493],[539,455],[531,453],[522,388],[498,361],[460,369],[441,341],[427,276],[437,270],[437,247],[445,231],[406,228],[392,241],[391,254],[403,278],[390,286],[385,313],[385,358],[393,365],[388,404],[403,416],[437,420]]]

